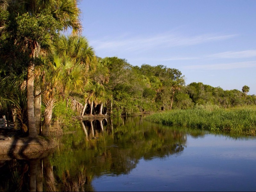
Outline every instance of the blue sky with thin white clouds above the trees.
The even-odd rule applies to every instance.
[[[81,0],[79,8],[82,35],[101,58],[256,95],[255,0]]]

